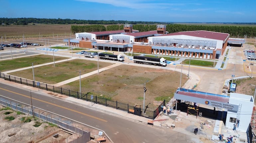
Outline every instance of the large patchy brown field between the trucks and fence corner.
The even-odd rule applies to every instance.
[[[103,96],[107,99],[129,105],[143,105],[144,84],[146,83],[145,104],[155,110],[155,101],[170,101],[180,86],[181,73],[158,68],[119,65],[81,80],[82,93]],[[187,82],[182,75],[182,86]],[[62,86],[79,91],[79,81]],[[159,102],[161,103],[161,102]],[[127,106],[127,105],[126,105]],[[148,110],[147,109],[147,110]]]

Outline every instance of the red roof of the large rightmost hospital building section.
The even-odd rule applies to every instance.
[[[216,39],[225,41],[229,36],[228,33],[220,33],[220,32],[212,32],[212,31],[185,31],[185,32],[176,32],[165,34],[163,36],[173,36],[173,35],[187,35],[187,36],[194,36],[194,37],[201,37],[201,38],[209,38],[209,39]]]

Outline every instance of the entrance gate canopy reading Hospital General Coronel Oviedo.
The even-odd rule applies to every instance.
[[[237,113],[238,111],[238,105],[229,104],[229,96],[179,88],[174,93],[174,98],[226,109],[229,112]]]

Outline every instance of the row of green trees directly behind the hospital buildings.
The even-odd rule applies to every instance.
[[[139,30],[140,32],[157,30],[157,25],[155,24],[135,24],[132,25],[134,30]],[[71,25],[72,33],[79,32],[98,32],[98,31],[113,31],[113,30],[123,30],[124,25]],[[182,25],[182,24],[168,24],[166,25],[166,31],[169,33],[183,32],[183,31],[196,31],[205,30],[213,32],[228,33],[230,37],[256,37],[256,26],[208,26],[208,25]]]

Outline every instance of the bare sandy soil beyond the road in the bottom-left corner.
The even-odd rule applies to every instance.
[[[24,120],[22,121],[21,119],[22,117],[26,118],[26,115],[17,114],[13,110],[1,110],[3,108],[0,106],[0,143],[66,143],[79,137],[78,134],[71,134],[56,126],[51,126],[40,119],[34,120],[32,118],[31,122],[24,123]],[[10,114],[5,115],[6,112],[10,112]],[[5,119],[11,116],[15,119],[11,121]],[[36,122],[40,122],[42,125],[35,127]],[[85,126],[76,126],[98,133],[98,131]],[[54,137],[56,134],[58,134],[58,137]],[[91,136],[94,136],[95,139],[98,137],[97,134],[91,134]]]

